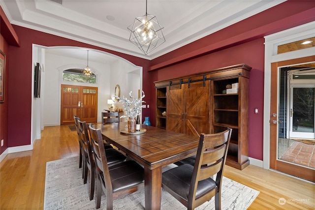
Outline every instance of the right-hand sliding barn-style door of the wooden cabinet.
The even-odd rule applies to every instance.
[[[185,133],[210,133],[210,81],[193,82],[185,88]]]

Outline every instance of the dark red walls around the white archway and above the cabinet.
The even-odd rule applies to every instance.
[[[250,157],[262,160],[264,106],[263,36],[311,21],[315,21],[315,1],[285,1],[278,6],[152,61],[14,26],[14,30],[20,39],[20,47],[9,46],[11,76],[8,80],[8,94],[6,94],[6,96],[9,96],[7,97],[9,107],[7,120],[8,147],[29,145],[31,142],[32,44],[78,46],[109,52],[144,67],[143,90],[146,94],[145,101],[150,105],[150,108],[144,109],[143,116],[149,116],[153,125],[155,125],[154,107],[156,94],[154,81],[209,71],[239,63],[250,65],[252,71],[249,96],[249,151]],[[269,106],[269,104],[266,104],[266,106]],[[259,108],[258,115],[253,114],[254,108]]]

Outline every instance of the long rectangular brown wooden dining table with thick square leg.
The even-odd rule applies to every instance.
[[[144,166],[145,209],[161,206],[162,168],[197,153],[199,137],[141,125],[143,134],[126,134],[126,123],[97,124],[103,139]]]

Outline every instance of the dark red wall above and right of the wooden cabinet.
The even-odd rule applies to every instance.
[[[152,60],[151,82],[246,63],[249,90],[249,156],[263,159],[264,36],[315,21],[315,1],[289,0]],[[151,90],[155,94],[155,90]],[[154,104],[155,101],[151,101]],[[265,104],[269,106],[269,104]],[[259,114],[254,114],[254,108]],[[152,116],[155,116],[152,110]],[[155,125],[155,122],[153,123]]]

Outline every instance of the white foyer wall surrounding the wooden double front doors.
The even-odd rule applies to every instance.
[[[60,106],[61,106],[61,84],[79,85],[79,86],[93,86],[98,87],[98,107],[97,107],[97,121],[101,121],[101,112],[108,108],[107,99],[114,95],[117,84],[121,86],[122,94],[129,92],[128,88],[131,86],[140,89],[140,78],[128,78],[127,73],[138,70],[136,67],[126,60],[117,59],[113,64],[104,64],[102,62],[95,62],[89,60],[89,66],[97,76],[97,84],[87,83],[73,83],[63,82],[62,72],[67,68],[84,68],[86,60],[80,60],[70,57],[50,54],[49,50],[45,53],[45,88],[44,88],[44,106],[43,106],[43,125],[55,126],[60,125]],[[142,70],[142,69],[141,69]],[[140,75],[140,74],[139,74]],[[141,74],[142,75],[142,74]],[[128,82],[128,80],[131,80]],[[127,86],[127,84],[133,84]],[[124,91],[124,92],[123,92]],[[122,96],[122,95],[121,95]]]

